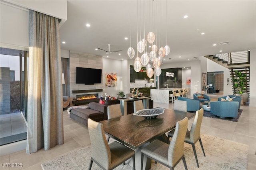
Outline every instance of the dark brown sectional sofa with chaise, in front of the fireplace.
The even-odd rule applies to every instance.
[[[88,127],[87,120],[104,121],[108,119],[108,106],[120,104],[118,99],[107,100],[104,104],[90,102],[86,109],[71,109],[70,118]],[[153,101],[149,99],[149,108],[153,108]],[[127,114],[134,113],[133,102],[127,102]]]

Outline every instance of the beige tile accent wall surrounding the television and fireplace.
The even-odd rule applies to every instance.
[[[71,106],[74,105],[72,101],[73,99],[76,99],[76,95],[94,93],[94,92],[72,93],[73,90],[102,89],[102,86],[103,86],[103,79],[101,80],[102,82],[101,84],[94,84],[94,85],[76,84],[76,67],[102,69],[103,68],[102,56],[70,51],[70,105]],[[102,69],[102,74],[103,74],[103,69]],[[103,95],[102,92],[97,92],[97,93],[99,94],[99,96]]]

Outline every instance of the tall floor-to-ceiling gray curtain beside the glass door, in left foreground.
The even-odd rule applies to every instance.
[[[63,99],[58,19],[30,10],[26,153],[63,144]]]

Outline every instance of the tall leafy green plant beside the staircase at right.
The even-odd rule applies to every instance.
[[[246,85],[245,83],[247,81],[246,73],[242,73],[242,72],[239,72],[238,70],[236,70],[234,72],[232,81],[234,83],[234,88],[239,91],[240,95],[242,95],[242,93],[243,93],[242,90],[245,89],[244,86]]]

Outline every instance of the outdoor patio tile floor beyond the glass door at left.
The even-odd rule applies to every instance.
[[[26,123],[20,112],[0,115],[0,137],[27,132]]]

